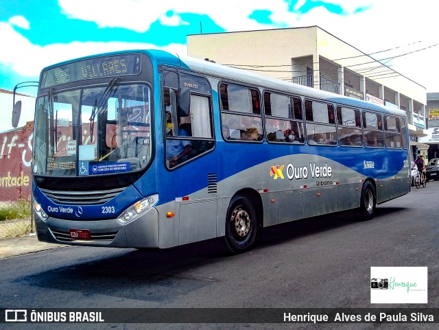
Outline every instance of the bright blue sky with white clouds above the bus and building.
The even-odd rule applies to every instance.
[[[438,10],[433,0],[0,0],[0,89],[12,91],[50,64],[91,54],[186,55],[187,34],[317,25],[434,93]],[[10,121],[2,107],[0,122],[5,116]]]

